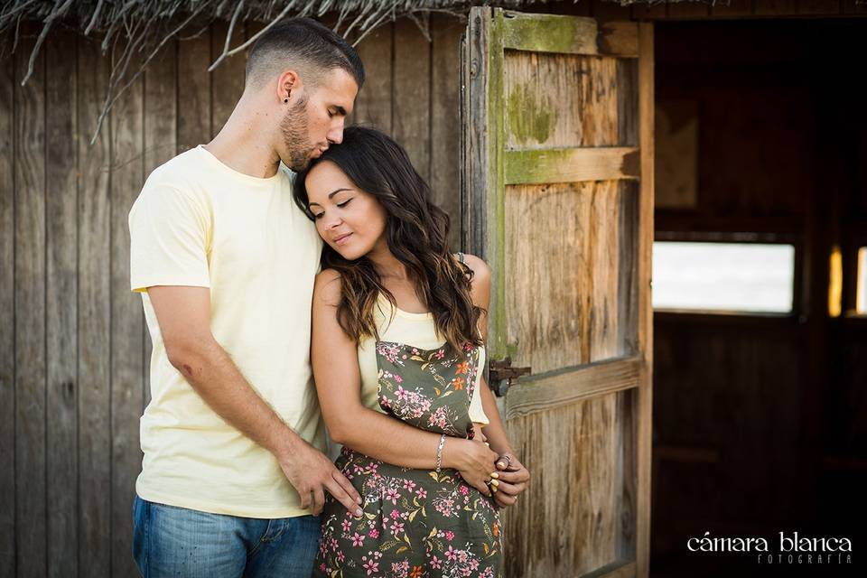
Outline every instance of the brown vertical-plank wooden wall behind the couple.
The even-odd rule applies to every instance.
[[[350,119],[406,146],[456,226],[463,26],[435,16],[431,42],[407,21],[366,39]],[[146,175],[208,142],[234,107],[243,58],[207,72],[225,30],[168,44],[92,146],[108,73],[97,42],[51,33],[23,87],[38,30],[0,61],[0,577],[135,573],[150,349],[126,216]]]

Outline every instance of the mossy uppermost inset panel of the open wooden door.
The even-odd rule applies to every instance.
[[[508,51],[507,147],[616,146],[619,61]]]

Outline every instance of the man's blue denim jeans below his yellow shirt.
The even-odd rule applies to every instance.
[[[144,578],[308,578],[319,517],[223,516],[135,497],[133,558]]]

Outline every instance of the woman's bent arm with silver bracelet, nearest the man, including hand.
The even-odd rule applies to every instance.
[[[377,460],[405,468],[433,470],[440,435],[425,432],[361,403],[358,346],[340,327],[340,274],[331,269],[316,277],[312,300],[311,360],[322,417],[331,438]],[[497,454],[480,440],[447,437],[445,468],[454,468],[481,492]]]

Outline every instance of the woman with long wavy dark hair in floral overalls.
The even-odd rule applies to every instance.
[[[322,415],[364,502],[355,518],[326,499],[316,573],[501,575],[497,507],[529,474],[481,378],[488,267],[452,255],[447,215],[378,131],[346,129],[294,196],[325,241],[311,351]]]

